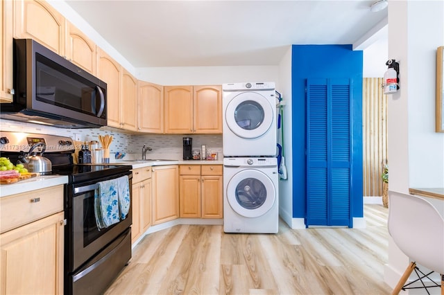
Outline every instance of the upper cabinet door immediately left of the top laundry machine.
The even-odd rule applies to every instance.
[[[194,86],[194,133],[222,133],[222,87]]]

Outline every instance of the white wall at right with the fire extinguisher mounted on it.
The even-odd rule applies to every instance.
[[[388,57],[400,62],[400,90],[388,96],[389,190],[444,187],[444,134],[434,132],[443,15],[444,1],[388,1]],[[389,239],[386,283],[393,287],[408,263]]]

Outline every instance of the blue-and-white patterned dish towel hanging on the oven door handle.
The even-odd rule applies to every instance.
[[[94,193],[94,213],[99,230],[126,218],[130,210],[128,176],[101,181]]]

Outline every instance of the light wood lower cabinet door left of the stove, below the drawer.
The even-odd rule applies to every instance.
[[[0,235],[0,294],[62,294],[64,213]]]

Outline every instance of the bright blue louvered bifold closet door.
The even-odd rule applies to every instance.
[[[307,226],[352,227],[350,128],[350,80],[307,80]]]

